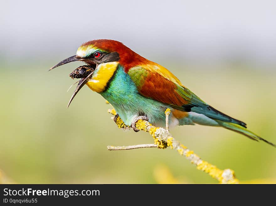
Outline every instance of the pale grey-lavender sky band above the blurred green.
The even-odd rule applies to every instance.
[[[0,58],[61,60],[114,39],[151,60],[276,65],[275,1],[1,1]]]

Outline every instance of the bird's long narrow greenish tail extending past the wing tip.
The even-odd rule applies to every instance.
[[[238,132],[242,135],[245,135],[248,138],[250,138],[251,140],[255,140],[255,141],[262,140],[262,141],[268,143],[269,145],[276,147],[276,145],[274,145],[273,143],[263,139],[262,137],[259,137],[258,135],[254,134],[253,132],[249,131],[248,129],[246,129],[245,127],[243,127],[239,124],[235,124],[235,123],[231,123],[231,122],[224,122],[224,121],[220,121],[217,119],[215,121],[218,122],[220,124],[220,126],[226,128],[226,129],[230,129],[232,131]]]

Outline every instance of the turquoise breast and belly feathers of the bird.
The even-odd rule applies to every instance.
[[[127,125],[130,125],[132,120],[139,115],[146,115],[151,123],[165,121],[164,111],[167,106],[141,96],[135,83],[120,65],[106,90],[100,94],[109,101]]]

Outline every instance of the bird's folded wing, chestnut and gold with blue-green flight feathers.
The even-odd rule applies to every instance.
[[[209,106],[182,83],[165,67],[154,62],[151,64],[134,66],[128,74],[137,86],[138,92],[146,97],[162,102],[173,108],[186,112],[204,114],[212,119],[233,122],[245,126],[246,124],[229,117]]]

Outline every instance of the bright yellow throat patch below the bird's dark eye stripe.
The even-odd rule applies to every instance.
[[[112,80],[118,64],[118,61],[99,64],[94,71],[92,79],[86,85],[95,92],[104,92]]]

